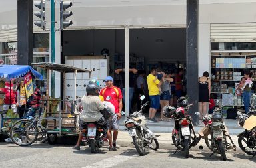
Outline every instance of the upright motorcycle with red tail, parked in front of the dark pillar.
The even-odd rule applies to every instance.
[[[185,158],[189,157],[189,149],[196,146],[200,141],[200,137],[197,137],[195,134],[191,116],[187,114],[189,107],[192,105],[193,104],[189,104],[185,107],[177,108],[171,116],[171,118],[175,118],[175,125],[172,133],[173,145],[177,147],[175,153],[178,150],[184,151]]]

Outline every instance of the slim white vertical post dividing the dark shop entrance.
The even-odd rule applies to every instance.
[[[125,116],[129,116],[129,27],[125,27]]]

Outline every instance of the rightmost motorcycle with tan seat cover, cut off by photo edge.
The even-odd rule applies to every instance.
[[[256,96],[252,96],[252,100]],[[238,145],[248,155],[256,155],[256,107],[251,106],[248,114],[237,112],[238,124],[243,127],[245,131],[239,133]]]

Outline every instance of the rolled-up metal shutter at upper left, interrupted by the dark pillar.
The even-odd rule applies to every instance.
[[[33,27],[33,33],[45,33],[40,27]],[[17,41],[18,32],[17,28],[0,30],[0,42]]]

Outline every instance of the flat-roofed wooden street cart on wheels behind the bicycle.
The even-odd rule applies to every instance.
[[[76,78],[77,73],[89,73],[89,76],[91,77],[91,70],[83,69],[83,68],[77,68],[74,66],[69,66],[66,64],[53,64],[53,63],[35,63],[32,64],[34,68],[44,68],[47,70],[47,91],[46,91],[46,100],[47,102],[51,102],[49,100],[49,76],[50,76],[50,70],[54,70],[57,72],[63,73],[63,91],[65,91],[65,76],[66,73],[74,73],[74,85],[73,90],[74,93],[76,93]],[[65,92],[63,92],[63,98],[65,101]],[[76,98],[76,96],[74,96]],[[61,101],[61,100],[60,100]],[[75,99],[72,100],[72,103],[75,104]],[[63,104],[63,110],[59,110],[58,112],[51,112],[50,110],[50,104],[47,103],[46,113],[44,115],[43,119],[47,120],[47,133],[49,135],[48,142],[53,144],[55,143],[57,134],[59,135],[65,135],[65,134],[77,134],[79,129],[77,125],[77,118],[78,116],[76,114],[73,114],[73,112],[67,112],[65,103]]]

